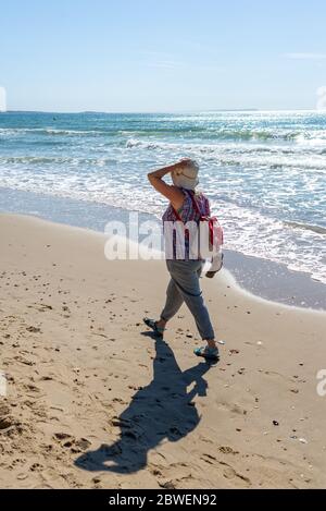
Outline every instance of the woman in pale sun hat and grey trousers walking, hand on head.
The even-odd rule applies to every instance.
[[[199,222],[201,216],[210,216],[209,199],[202,193],[196,193],[198,172],[199,167],[196,161],[184,159],[148,174],[151,185],[170,200],[170,205],[163,215],[163,222],[175,222],[178,220],[183,221],[183,223],[189,221]],[[171,174],[173,185],[167,184],[163,180],[167,174]],[[187,238],[185,245],[187,248]],[[185,302],[196,320],[202,340],[206,342],[206,345],[196,349],[195,354],[216,360],[218,358],[218,349],[199,283],[204,260],[200,255],[197,258],[189,258],[189,242],[188,253],[186,251],[184,258],[177,258],[175,245],[173,248],[173,255],[166,255],[166,266],[171,280],[166,290],[166,303],[161,317],[156,321],[150,318],[143,318],[143,321],[156,336],[162,337],[167,321],[175,316]],[[206,276],[213,277],[215,272],[216,270],[212,268]]]

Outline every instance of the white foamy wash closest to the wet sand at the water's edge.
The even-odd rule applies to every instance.
[[[47,172],[36,175],[33,172],[12,170],[0,180],[1,186],[52,194],[83,200],[95,200],[126,209],[151,212],[160,217],[164,210],[164,199],[155,196],[146,184],[137,187],[133,179],[118,182],[101,175]],[[281,220],[240,207],[222,199],[212,200],[212,210],[220,217],[224,229],[226,247],[258,256],[288,268],[308,271],[316,280],[326,283],[326,236],[317,232],[286,224]]]

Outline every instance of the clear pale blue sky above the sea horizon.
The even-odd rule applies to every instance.
[[[313,109],[326,2],[0,0],[9,109]]]

